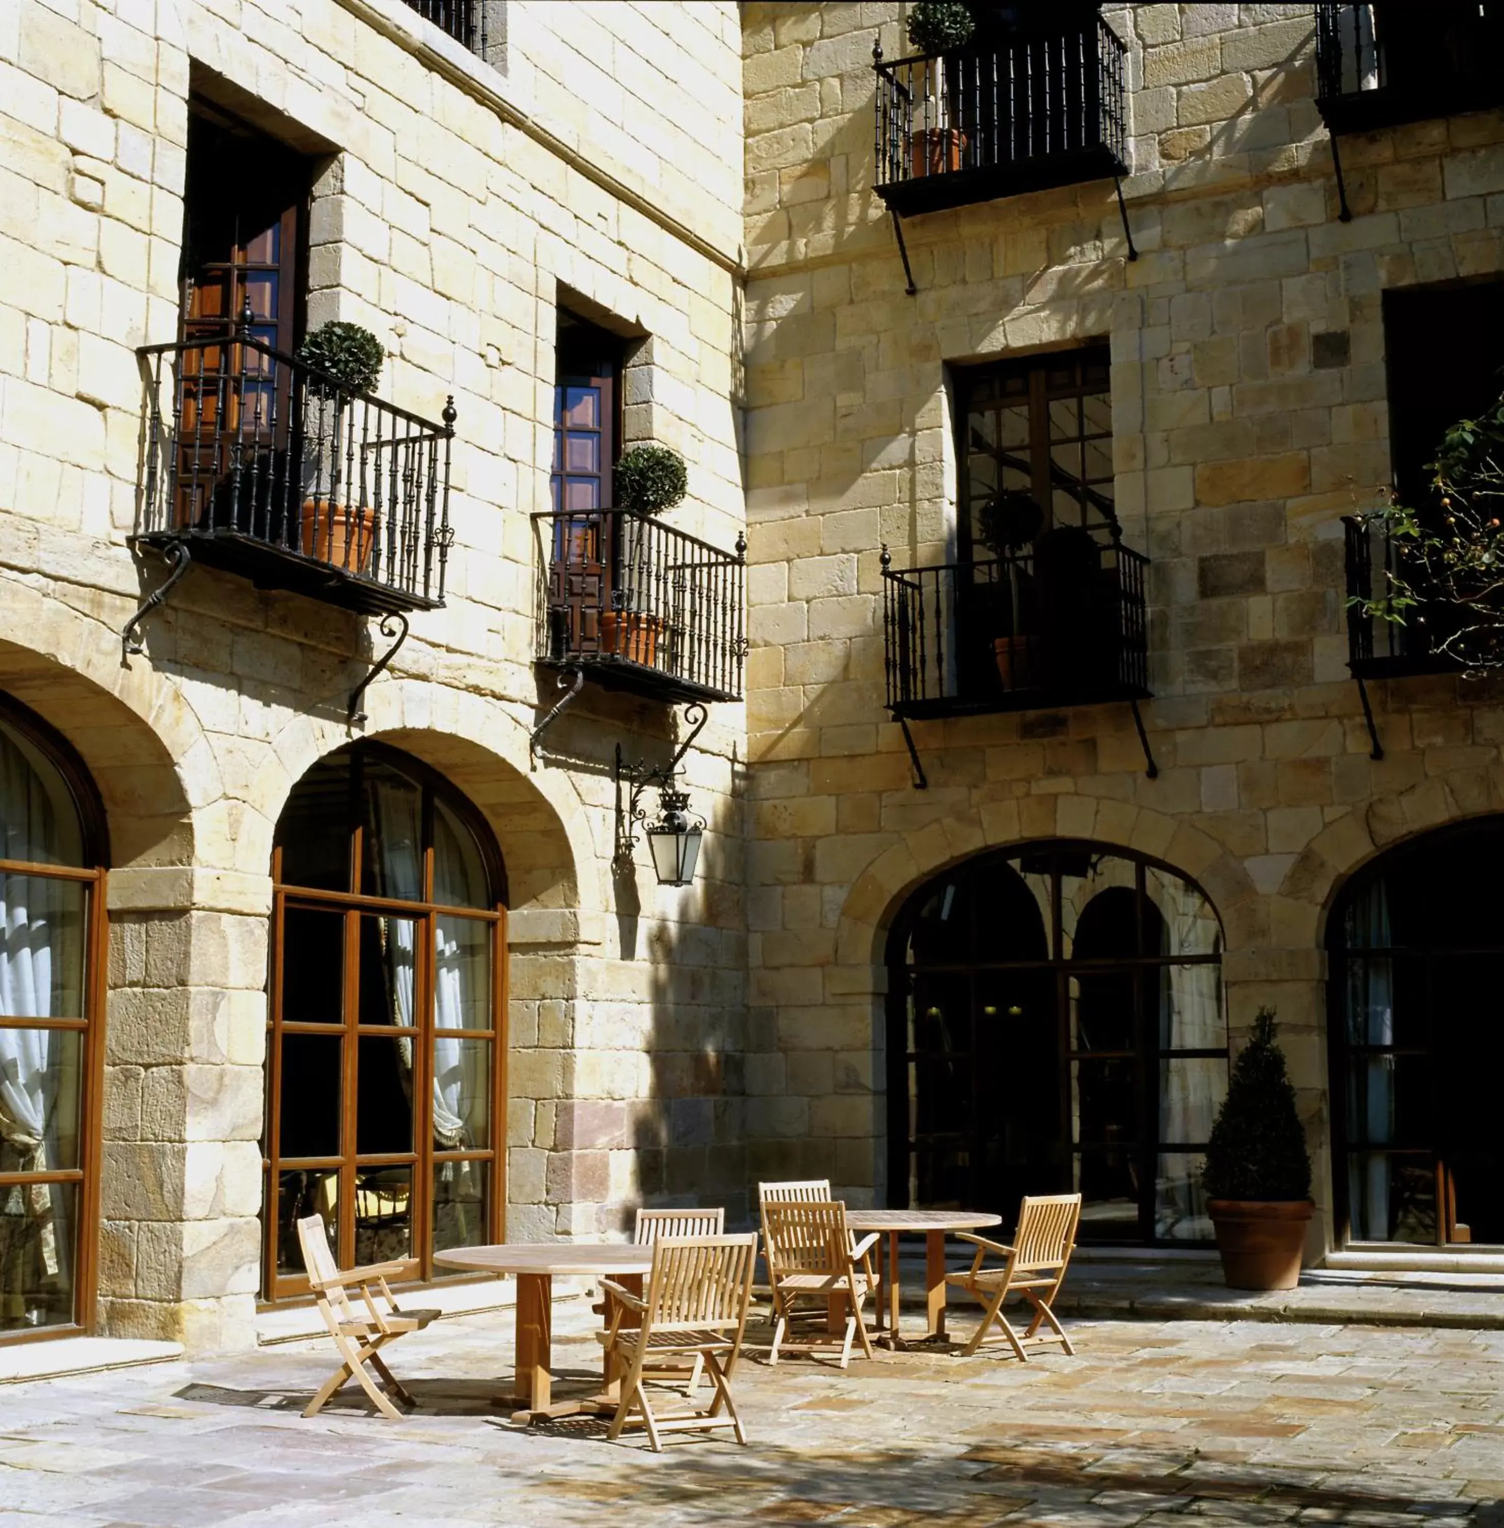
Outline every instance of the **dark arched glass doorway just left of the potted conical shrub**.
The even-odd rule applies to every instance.
[[[1024,1193],[1079,1189],[1084,1241],[1209,1239],[1221,946],[1197,886],[1094,843],[922,886],[888,940],[890,1201],[1010,1221]]]

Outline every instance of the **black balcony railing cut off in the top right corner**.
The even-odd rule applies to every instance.
[[[1376,0],[1316,6],[1316,105],[1333,133],[1366,133],[1504,104],[1504,6]]]

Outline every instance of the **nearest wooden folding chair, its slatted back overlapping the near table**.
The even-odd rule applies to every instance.
[[[731,1398],[731,1375],[741,1352],[752,1303],[752,1265],[757,1236],[665,1236],[653,1244],[653,1271],[645,1297],[604,1280],[611,1296],[611,1326],[605,1334],[607,1374],[625,1371],[622,1397],[607,1436],[614,1439],[627,1426],[648,1430],[654,1453],[660,1433],[731,1427],[737,1442],[746,1442],[741,1418]],[[627,1326],[631,1317],[636,1326]],[[650,1371],[665,1358],[694,1355],[711,1377],[715,1395],[709,1407],[660,1415],[648,1400]],[[633,1410],[640,1412],[633,1416]],[[724,1415],[723,1415],[724,1410]]]

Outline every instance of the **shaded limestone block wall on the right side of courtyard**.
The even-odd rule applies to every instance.
[[[749,1152],[880,1196],[903,894],[987,845],[1090,837],[1212,895],[1233,1044],[1278,1005],[1325,1210],[1325,908],[1504,781],[1496,695],[1451,678],[1373,686],[1369,758],[1340,539],[1389,481],[1382,292],[1504,270],[1504,118],[1345,139],[1342,223],[1308,8],[1110,5],[1139,258],[1094,182],[908,219],[909,296],[871,193],[871,47],[908,50],[902,11],[744,15]],[[879,553],[946,561],[946,368],[1102,339],[1125,541],[1152,559],[1159,778],[1126,706],[1094,706],[916,723],[917,792],[883,711]]]

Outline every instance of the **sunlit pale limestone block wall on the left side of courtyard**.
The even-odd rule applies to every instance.
[[[561,304],[643,338],[627,434],[688,457],[671,523],[728,550],[743,524],[737,14],[489,12],[504,46],[481,61],[399,0],[0,6],[0,683],[75,741],[110,808],[109,1331],[248,1331],[272,834],[356,735],[448,773],[501,843],[514,1230],[610,1230],[639,1196],[735,1177],[741,711],[717,707],[688,761],[711,831],[683,892],[642,847],[611,866],[613,749],[665,762],[662,704],[587,691],[553,761],[533,767],[527,740],[558,698],[532,662],[529,516],[549,504]],[[121,657],[164,571],[127,544],[135,347],[177,332],[194,90],[319,156],[310,322],[367,324],[382,397],[459,411],[448,605],[413,619],[364,730],[344,712],[384,646],[373,623],[245,579],[194,568]]]

